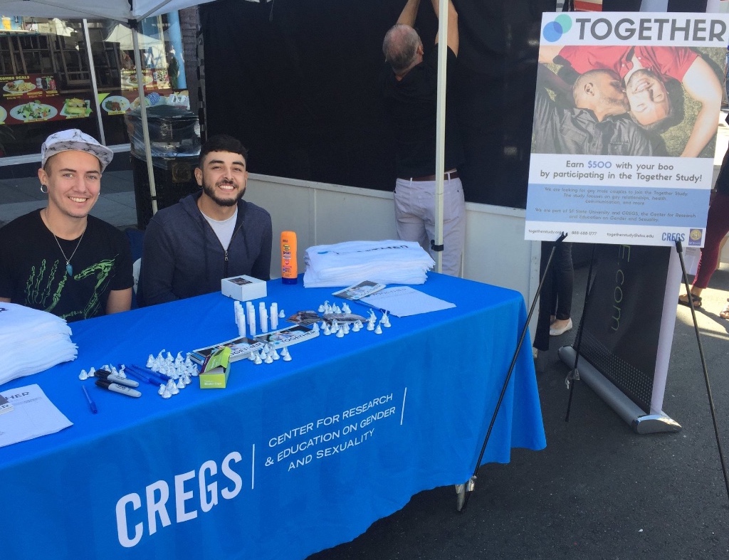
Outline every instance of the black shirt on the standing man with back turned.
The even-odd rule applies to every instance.
[[[453,106],[453,76],[456,55],[448,49],[445,119],[445,170],[458,167],[463,149]],[[383,69],[383,96],[396,143],[397,176],[423,177],[435,173],[435,127],[437,104],[437,48],[401,80],[389,65]]]

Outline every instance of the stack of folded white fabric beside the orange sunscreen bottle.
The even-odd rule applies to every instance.
[[[306,288],[380,284],[422,284],[433,259],[414,241],[348,241],[316,245],[305,253]]]

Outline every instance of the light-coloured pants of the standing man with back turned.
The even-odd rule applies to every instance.
[[[417,241],[433,260],[435,239],[435,181],[397,179],[395,218],[401,240]],[[461,179],[443,181],[443,274],[458,276],[466,239],[466,202]]]

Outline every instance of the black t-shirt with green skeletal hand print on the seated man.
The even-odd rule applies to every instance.
[[[40,212],[34,210],[0,229],[0,296],[69,322],[104,315],[109,291],[133,285],[125,234],[88,216],[80,242],[58,238],[66,256],[74,255],[70,277],[66,259]]]

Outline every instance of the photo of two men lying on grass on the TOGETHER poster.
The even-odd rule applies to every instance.
[[[539,48],[532,153],[714,157],[726,49]]]

